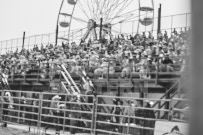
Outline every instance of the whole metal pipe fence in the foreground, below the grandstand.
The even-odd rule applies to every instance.
[[[95,134],[133,134],[145,135],[155,130],[157,119],[155,111],[167,112],[165,121],[176,121],[173,117],[174,99],[143,99],[135,97],[117,97],[105,95],[68,95],[59,93],[39,93],[6,90],[1,91],[1,98],[5,99],[5,92],[13,96],[13,109],[8,108],[9,102],[1,102],[1,116],[3,122],[12,124],[27,124],[36,128],[38,135],[45,130],[70,133]],[[21,95],[25,98],[22,98]],[[14,97],[14,95],[16,95]],[[51,100],[55,95],[60,101]],[[35,98],[33,98],[35,96]],[[83,98],[82,98],[83,97]],[[80,99],[84,99],[80,100]],[[103,101],[102,101],[103,100]],[[181,99],[175,99],[181,100]],[[150,102],[149,102],[150,101]],[[170,109],[151,108],[152,101],[169,102]],[[57,103],[57,107],[51,104]],[[61,108],[60,108],[61,107]],[[179,111],[185,111],[179,109]],[[52,112],[52,113],[51,113]],[[163,120],[163,119],[162,119]]]

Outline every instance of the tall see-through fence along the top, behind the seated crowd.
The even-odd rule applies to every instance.
[[[162,16],[162,26],[161,31],[167,31],[168,33],[172,33],[173,29],[176,28],[177,31],[181,30],[182,28],[189,28],[191,26],[191,13],[184,13],[184,14],[177,14],[177,15],[169,15],[169,16]],[[117,34],[124,34],[124,35],[135,35],[137,30],[135,29],[137,27],[137,23],[139,23],[139,20],[131,20],[126,22],[118,23],[117,26],[114,26]],[[152,34],[156,37],[157,35],[157,17],[154,18],[154,30]],[[132,27],[129,27],[132,26]],[[124,29],[125,28],[125,29]],[[126,29],[127,28],[127,29]],[[78,30],[73,30],[78,31]],[[140,28],[139,33],[142,32],[149,32],[151,31],[151,26],[145,28]],[[72,33],[71,32],[71,33]],[[82,32],[82,30],[79,29],[79,33]],[[59,37],[64,37],[68,35],[67,31],[61,31],[59,32]],[[72,41],[80,41],[82,39],[83,35],[72,39]],[[59,44],[62,44],[62,42],[65,42],[64,40],[59,40]],[[22,48],[23,39],[17,38],[17,39],[10,39],[5,41],[0,41],[0,54],[6,54],[6,52],[13,51],[15,52],[16,49],[20,50]],[[48,44],[55,44],[55,32],[53,33],[45,33],[45,34],[39,34],[39,35],[32,35],[25,38],[25,44],[24,48],[27,50],[30,50],[34,48],[35,45],[38,45],[40,48],[41,45],[48,45]]]

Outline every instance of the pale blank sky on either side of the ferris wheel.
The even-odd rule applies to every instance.
[[[0,41],[20,38],[23,31],[26,36],[54,32],[60,3],[61,0],[0,0]],[[155,16],[160,3],[162,16],[191,11],[190,0],[154,0]]]

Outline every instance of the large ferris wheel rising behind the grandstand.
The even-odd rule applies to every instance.
[[[67,33],[56,33],[56,41],[113,39],[120,34],[153,31],[153,22],[153,0],[62,0],[57,27]]]

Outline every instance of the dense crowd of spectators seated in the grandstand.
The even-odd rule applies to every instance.
[[[95,77],[120,72],[120,77],[129,77],[139,72],[141,78],[151,78],[150,72],[179,72],[186,69],[188,55],[187,39],[190,29],[168,34],[159,33],[157,39],[151,32],[124,36],[102,43],[89,40],[87,43],[62,45],[35,45],[33,49],[16,50],[0,56],[0,72],[6,75],[25,75],[30,69],[40,69],[41,77],[57,74],[57,64],[64,64],[70,73],[79,74],[81,69],[92,72]],[[181,66],[180,66],[181,65]]]

